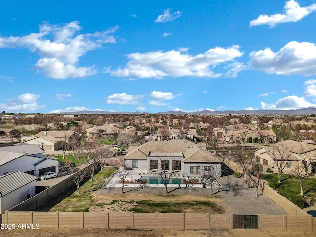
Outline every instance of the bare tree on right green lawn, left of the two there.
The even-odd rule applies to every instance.
[[[268,147],[267,150],[268,155],[273,159],[277,167],[278,182],[281,183],[281,173],[291,157],[291,147],[283,142],[279,142],[274,146]]]

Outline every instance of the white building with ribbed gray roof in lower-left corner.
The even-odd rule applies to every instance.
[[[36,179],[20,171],[0,176],[0,213],[34,196]]]

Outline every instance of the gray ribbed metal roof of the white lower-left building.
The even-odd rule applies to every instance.
[[[13,173],[0,176],[0,197],[11,193],[36,179],[37,177],[21,171],[15,171]]]

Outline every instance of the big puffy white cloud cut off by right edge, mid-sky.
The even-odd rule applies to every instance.
[[[250,53],[249,66],[269,74],[315,75],[316,46],[309,42],[289,42],[278,52],[270,48]]]

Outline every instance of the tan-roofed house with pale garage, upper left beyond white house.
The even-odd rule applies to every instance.
[[[60,150],[65,143],[79,144],[81,134],[74,131],[41,131],[34,136],[22,136],[21,142],[36,144],[47,151]]]

